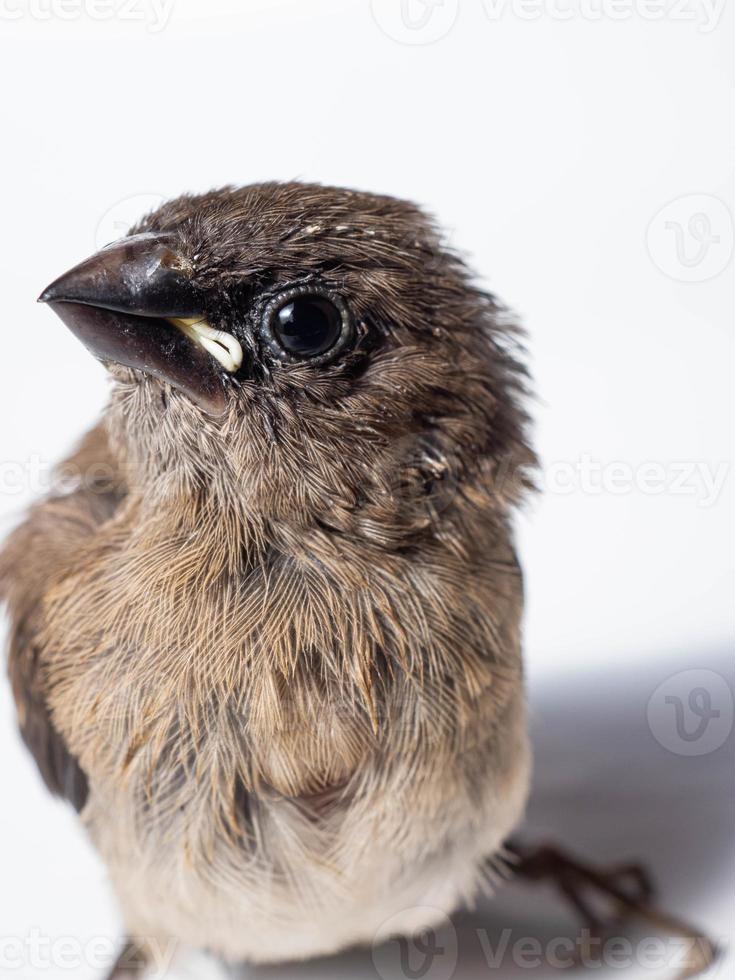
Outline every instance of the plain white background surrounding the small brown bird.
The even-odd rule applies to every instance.
[[[528,330],[545,485],[519,522],[543,763],[529,829],[644,851],[676,911],[726,934],[733,841],[711,821],[728,825],[713,814],[735,779],[735,12],[411,0],[412,28],[400,0],[160,2],[0,0],[2,529],[107,390],[34,299],[141,210],[271,178],[426,205]],[[725,675],[696,675],[725,726],[696,758],[671,719],[646,723],[692,669]],[[103,871],[41,790],[5,690],[2,709],[0,938],[115,937]],[[99,973],[30,959],[8,975]]]

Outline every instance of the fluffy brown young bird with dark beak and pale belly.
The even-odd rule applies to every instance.
[[[268,963],[471,901],[529,785],[512,318],[417,207],[299,183],[41,300],[112,394],[2,553],[10,678],[129,934]]]

